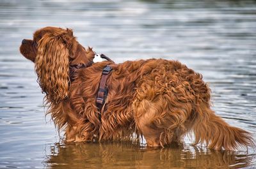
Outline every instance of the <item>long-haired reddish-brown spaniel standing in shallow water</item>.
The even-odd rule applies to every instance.
[[[178,61],[93,63],[92,48],[80,45],[72,30],[58,27],[44,27],[33,40],[22,40],[20,52],[35,62],[47,114],[58,129],[65,129],[68,142],[143,135],[148,146],[158,147],[180,143],[193,131],[195,144],[206,143],[211,149],[253,145],[250,133],[228,125],[211,110],[210,89],[202,75]],[[70,68],[79,64],[84,68],[70,75]],[[95,101],[102,70],[109,64],[109,92],[100,110]]]

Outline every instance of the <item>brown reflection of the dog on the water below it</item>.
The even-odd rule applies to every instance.
[[[212,151],[171,145],[143,148],[132,143],[56,143],[45,158],[47,168],[241,168],[245,152]]]

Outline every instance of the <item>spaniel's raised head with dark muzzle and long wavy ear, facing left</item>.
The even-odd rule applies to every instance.
[[[69,67],[93,60],[92,48],[80,45],[71,29],[44,27],[34,33],[33,40],[22,40],[20,53],[35,62],[42,91],[49,101],[58,103],[68,97]]]

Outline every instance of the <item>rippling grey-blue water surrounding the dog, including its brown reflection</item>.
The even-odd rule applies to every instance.
[[[44,116],[20,41],[45,26],[115,62],[179,60],[204,75],[214,110],[256,138],[256,1],[0,1],[0,168],[256,168],[255,150],[65,144]],[[61,134],[60,134],[61,136]]]

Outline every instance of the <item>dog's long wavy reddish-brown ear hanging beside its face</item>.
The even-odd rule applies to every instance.
[[[64,32],[65,31],[65,32]],[[35,70],[38,84],[48,101],[58,103],[68,97],[70,41],[66,30],[46,33],[38,42]]]

